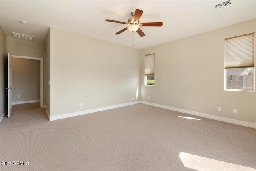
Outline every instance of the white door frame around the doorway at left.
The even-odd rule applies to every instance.
[[[30,60],[40,60],[40,107],[41,108],[44,108],[44,105],[43,105],[43,90],[44,90],[44,84],[43,84],[43,78],[44,78],[44,71],[43,71],[43,68],[44,68],[44,59],[43,58],[37,58],[37,57],[30,57],[30,56],[19,56],[19,55],[11,55],[10,54],[10,57],[12,58],[23,58],[23,59],[30,59]]]

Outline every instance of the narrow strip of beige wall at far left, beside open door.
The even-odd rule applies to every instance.
[[[0,118],[7,109],[7,50],[6,35],[0,26]]]

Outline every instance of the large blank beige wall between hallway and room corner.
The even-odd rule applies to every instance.
[[[140,50],[56,28],[50,34],[51,116],[140,100]]]

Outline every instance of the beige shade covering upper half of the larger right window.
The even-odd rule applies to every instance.
[[[225,39],[225,69],[254,67],[254,33]]]

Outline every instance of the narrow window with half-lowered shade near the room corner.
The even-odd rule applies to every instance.
[[[145,85],[155,85],[155,54],[145,56]]]

